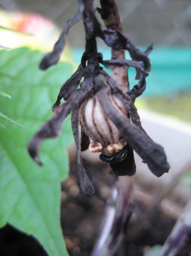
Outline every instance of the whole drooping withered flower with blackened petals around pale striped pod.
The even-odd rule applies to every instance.
[[[93,175],[82,158],[81,151],[89,147],[92,152],[101,152],[100,159],[108,162],[116,175],[135,174],[133,149],[140,155],[156,176],[168,172],[164,149],[146,134],[140,124],[135,98],[145,90],[150,71],[147,57],[152,47],[140,51],[131,40],[118,30],[103,30],[94,15],[93,0],[79,0],[77,14],[67,22],[56,42],[53,52],[46,55],[40,64],[41,69],[58,62],[65,44],[69,28],[83,19],[86,32],[86,47],[77,71],[60,89],[53,116],[46,122],[28,145],[31,157],[41,165],[38,151],[43,139],[57,137],[63,121],[72,112],[72,129],[77,147],[77,168],[82,190],[92,194]],[[106,45],[128,50],[132,60],[107,60],[97,52],[96,37],[102,38]],[[116,67],[135,67],[138,85],[123,93],[121,87],[99,64],[114,69]],[[80,81],[83,78],[83,82]],[[77,87],[80,84],[80,89]],[[60,105],[60,100],[65,103]]]

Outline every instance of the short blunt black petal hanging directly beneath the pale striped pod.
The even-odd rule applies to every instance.
[[[111,169],[117,176],[133,176],[136,172],[133,149],[128,144],[123,149],[127,151],[127,157],[121,162],[110,163]]]

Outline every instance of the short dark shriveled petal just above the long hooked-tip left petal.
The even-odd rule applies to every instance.
[[[60,92],[58,94],[56,102],[53,104],[53,111],[56,110],[58,106],[60,106],[60,101],[63,98],[67,100],[70,95],[77,89],[80,84],[83,75],[83,67],[80,64],[76,70],[76,72],[62,85],[60,88]]]

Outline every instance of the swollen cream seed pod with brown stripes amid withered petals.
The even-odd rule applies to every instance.
[[[127,118],[127,111],[123,102],[116,94],[111,94],[111,104]],[[82,108],[82,120],[90,134],[89,150],[102,152],[106,156],[112,156],[120,152],[126,145],[125,139],[116,125],[107,117],[100,106],[97,96],[88,99]]]

